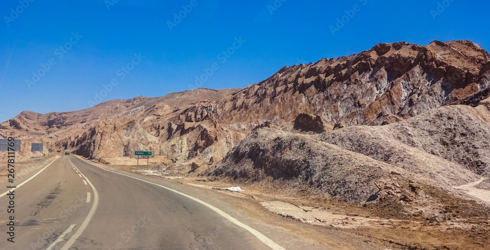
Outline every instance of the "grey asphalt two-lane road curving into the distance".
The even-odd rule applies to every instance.
[[[7,213],[9,194],[0,197],[0,249],[305,247],[294,233],[246,216],[210,190],[110,172],[73,155],[39,170],[15,189],[13,214]],[[2,193],[8,190],[1,188]],[[6,233],[11,215],[14,243]]]

